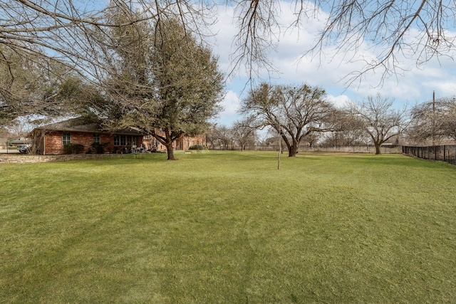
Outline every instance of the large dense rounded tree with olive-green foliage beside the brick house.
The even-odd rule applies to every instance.
[[[108,19],[135,19],[128,7],[116,7]],[[155,28],[158,27],[158,28]],[[105,125],[136,127],[155,137],[175,159],[173,142],[198,135],[219,110],[223,77],[212,51],[185,31],[180,19],[151,25],[147,21],[97,33],[94,51],[104,62],[98,98],[86,110]]]

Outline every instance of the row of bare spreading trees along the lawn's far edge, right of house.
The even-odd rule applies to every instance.
[[[249,91],[240,112],[244,120],[232,127],[213,126],[208,132],[209,148],[229,150],[239,146],[278,146],[278,138],[296,156],[304,142],[312,146],[373,145],[375,154],[388,142],[393,145],[439,145],[456,141],[456,100],[442,98],[408,110],[378,94],[336,108],[326,93],[309,85],[262,83]],[[268,130],[260,140],[258,130]]]

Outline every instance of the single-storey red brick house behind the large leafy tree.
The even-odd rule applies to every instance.
[[[79,153],[129,152],[132,147],[141,147],[144,135],[133,128],[108,131],[97,122],[77,117],[51,125],[37,127],[31,132],[33,151],[36,154],[65,154],[68,147],[78,147]]]

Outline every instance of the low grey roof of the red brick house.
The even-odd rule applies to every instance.
[[[142,132],[135,130],[132,127],[128,127],[120,130],[106,130],[100,122],[94,122],[86,117],[76,117],[62,122],[52,123],[50,125],[43,125],[42,127],[36,127],[36,130],[48,130],[48,131],[66,131],[66,132],[107,132],[116,134],[128,134],[128,135],[142,135]]]

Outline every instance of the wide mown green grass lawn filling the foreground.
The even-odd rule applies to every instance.
[[[454,303],[456,167],[207,152],[0,165],[0,303]]]

